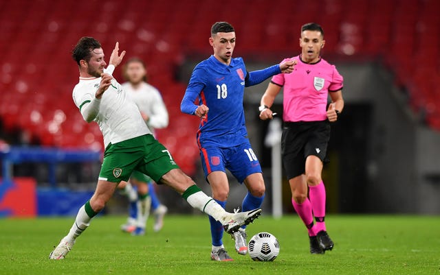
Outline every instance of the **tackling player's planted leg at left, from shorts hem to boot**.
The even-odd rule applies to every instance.
[[[102,210],[102,208],[104,208],[104,205],[109,201],[115,189],[115,182],[98,180],[94,195],[89,201],[80,207],[72,228],[70,228],[69,233],[67,233],[67,235],[61,239],[60,243],[58,243],[58,246],[56,246],[56,248],[54,248],[54,250],[50,253],[49,259],[65,259],[67,253],[72,250],[76,238],[81,235],[87,229],[87,227],[89,227],[91,219],[95,217],[99,211]]]

